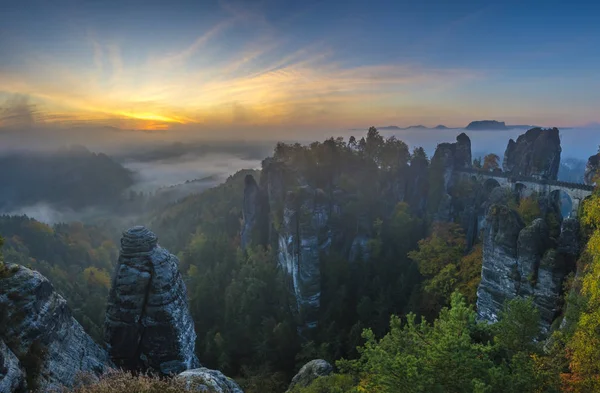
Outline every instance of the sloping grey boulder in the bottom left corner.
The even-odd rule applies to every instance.
[[[0,344],[0,364],[5,365],[0,366],[0,374],[5,375],[0,386],[17,384],[24,371],[34,373],[29,379],[41,391],[71,386],[81,372],[103,373],[111,365],[107,353],[72,317],[66,300],[52,284],[23,266],[7,267],[10,273],[0,279],[0,342],[6,344]],[[19,373],[15,358],[41,360],[35,370],[24,370],[21,363]]]

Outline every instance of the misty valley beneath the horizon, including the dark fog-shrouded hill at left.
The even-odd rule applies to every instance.
[[[423,147],[432,156],[439,143],[452,141],[463,129],[422,129],[381,131],[411,148]],[[99,217],[130,216],[173,203],[222,183],[241,169],[259,169],[270,155],[276,140],[265,141],[160,141],[143,137],[136,145],[117,140],[71,143],[75,131],[56,134],[51,144],[36,138],[19,139],[13,132],[0,135],[0,160],[5,167],[0,212],[25,214],[46,223],[93,222]],[[114,132],[111,130],[111,132]],[[473,156],[497,154],[505,146],[498,141],[516,139],[523,129],[467,131]],[[338,130],[324,137],[348,140],[359,130]],[[309,137],[310,138],[310,137]],[[286,143],[311,143],[306,137],[287,138]],[[569,128],[561,131],[562,161],[559,179],[583,182],[587,157],[600,144],[600,130]]]

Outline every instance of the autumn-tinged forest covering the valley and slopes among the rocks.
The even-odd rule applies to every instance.
[[[308,184],[352,195],[338,224],[368,236],[368,253],[349,262],[333,249],[320,256],[317,327],[302,329],[272,244],[240,244],[244,179],[188,196],[143,220],[176,253],[194,318],[197,355],[234,377],[247,393],[287,389],[309,360],[335,364],[335,373],[296,393],[338,392],[594,392],[600,391],[600,191],[581,209],[577,274],[564,288],[564,323],[542,337],[531,299],[504,305],[500,322],[474,311],[482,245],[463,228],[435,219],[441,173],[424,150],[410,152],[374,128],[351,137],[276,146]],[[497,156],[476,159],[494,170]],[[393,179],[430,168],[420,191],[426,208],[381,199]],[[456,192],[469,194],[468,184]],[[542,213],[536,196],[511,205],[525,222]],[[142,218],[140,218],[142,219]],[[98,342],[119,234],[81,223],[49,226],[25,216],[0,217],[7,262],[40,271],[68,301]]]

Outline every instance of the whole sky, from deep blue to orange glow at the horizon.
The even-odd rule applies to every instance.
[[[599,14],[589,0],[3,0],[0,129],[582,126],[600,121]]]

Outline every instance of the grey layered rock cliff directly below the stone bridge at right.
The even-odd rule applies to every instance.
[[[496,322],[506,300],[531,296],[540,310],[541,328],[548,333],[557,317],[562,281],[575,267],[578,222],[566,219],[558,242],[550,237],[544,219],[525,226],[507,205],[489,208],[483,242],[477,312]]]

